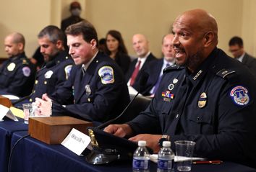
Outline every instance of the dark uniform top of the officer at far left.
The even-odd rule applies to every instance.
[[[35,65],[25,53],[5,60],[0,68],[0,89],[16,96],[27,96],[33,89]]]

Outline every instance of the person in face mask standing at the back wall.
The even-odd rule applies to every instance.
[[[68,17],[67,19],[63,19],[61,21],[61,30],[63,32],[66,30],[66,28],[71,25],[75,24],[77,22],[81,22],[85,19],[82,19],[80,17],[81,14],[81,5],[78,1],[73,1],[70,6],[69,6],[69,12],[71,13],[71,16]]]

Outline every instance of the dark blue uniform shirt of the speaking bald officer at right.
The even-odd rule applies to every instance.
[[[256,164],[256,80],[215,49],[197,68],[166,68],[155,98],[128,124],[136,134],[196,142],[195,156]]]

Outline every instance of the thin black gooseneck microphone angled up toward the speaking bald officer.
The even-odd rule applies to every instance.
[[[116,119],[119,119],[124,112],[127,112],[127,109],[131,106],[132,102],[135,101],[136,97],[140,94],[140,91],[142,91],[143,87],[145,87],[147,81],[148,81],[148,76],[149,74],[146,73],[145,71],[142,71],[142,75],[140,76],[140,87],[139,87],[139,91],[137,91],[137,94],[132,98],[131,101],[129,101],[129,104],[127,105],[127,107],[124,108],[123,112],[121,112],[121,114],[119,114],[119,116],[115,117],[114,119],[110,119],[107,122],[104,122],[103,124],[99,125],[98,129],[103,129],[104,127],[110,125],[112,122],[116,121]]]

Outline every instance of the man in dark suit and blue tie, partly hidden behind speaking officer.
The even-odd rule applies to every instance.
[[[145,86],[145,90],[141,92],[144,96],[153,97],[155,91],[158,89],[159,83],[161,82],[161,78],[163,76],[163,70],[169,66],[174,65],[175,63],[175,52],[172,41],[174,40],[173,34],[168,34],[163,37],[162,40],[162,53],[163,58],[152,61],[149,63],[145,72],[149,74],[147,85]]]

